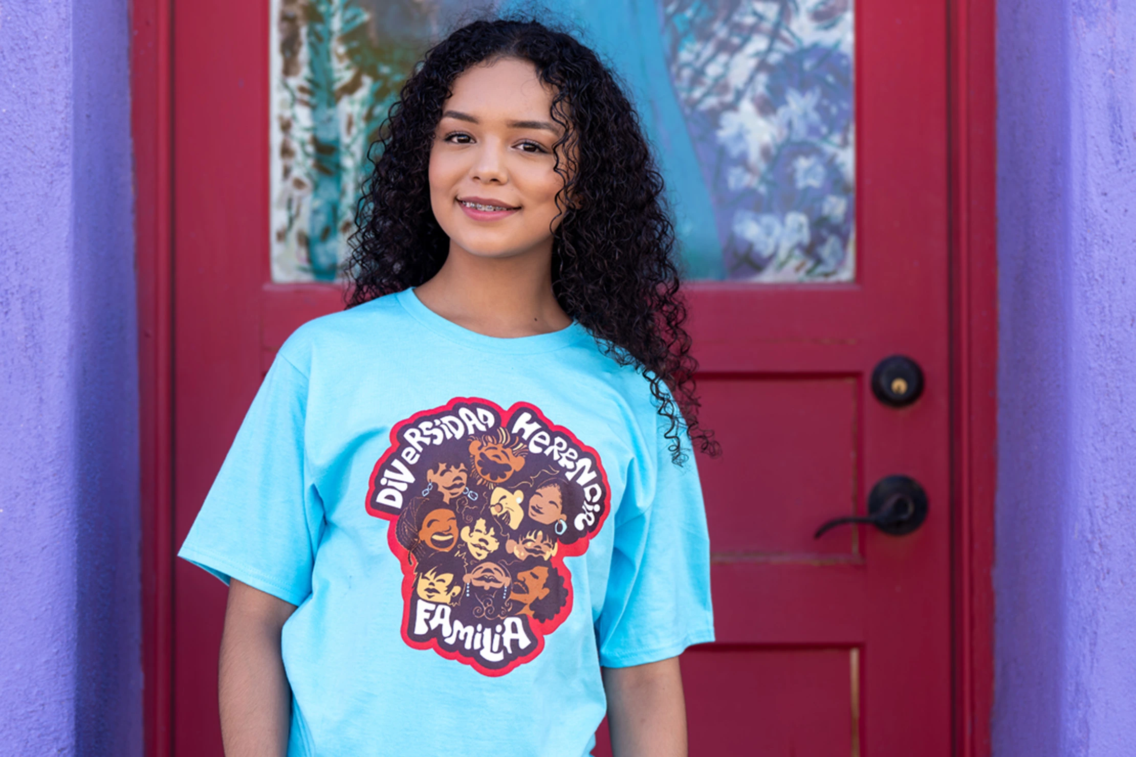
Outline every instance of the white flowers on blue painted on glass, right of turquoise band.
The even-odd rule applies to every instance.
[[[855,278],[851,0],[662,0],[726,278]]]

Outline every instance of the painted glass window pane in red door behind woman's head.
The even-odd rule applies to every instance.
[[[524,2],[273,0],[273,279],[331,280],[366,150],[415,61],[459,16]],[[686,269],[855,278],[851,0],[565,0],[655,144]]]

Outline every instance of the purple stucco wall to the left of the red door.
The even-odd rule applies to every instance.
[[[140,755],[126,0],[0,3],[0,755]]]

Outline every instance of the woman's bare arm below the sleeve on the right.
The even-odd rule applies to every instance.
[[[686,703],[678,657],[602,672],[615,757],[686,757]]]

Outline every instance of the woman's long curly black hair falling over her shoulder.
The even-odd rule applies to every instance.
[[[348,306],[418,286],[445,262],[449,238],[431,210],[427,174],[435,129],[457,77],[500,58],[533,64],[554,93],[551,116],[563,129],[554,149],[565,180],[552,247],[557,301],[601,350],[649,379],[676,464],[686,457],[684,421],[691,439],[716,454],[698,419],[698,363],[683,328],[662,176],[615,75],[570,34],[532,19],[476,20],[426,53],[371,145],[381,155],[371,158],[359,201]]]

